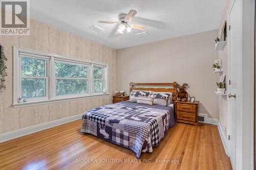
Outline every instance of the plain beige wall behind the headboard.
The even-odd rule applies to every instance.
[[[188,83],[199,112],[218,119],[217,74],[211,68],[217,36],[213,30],[118,50],[117,90],[128,91],[129,82]]]

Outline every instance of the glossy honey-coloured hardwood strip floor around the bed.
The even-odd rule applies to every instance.
[[[128,149],[79,134],[80,127],[76,120],[0,143],[0,169],[231,169],[215,125],[177,123],[141,162]]]

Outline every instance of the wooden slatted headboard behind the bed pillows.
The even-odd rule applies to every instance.
[[[132,90],[148,90],[155,92],[172,92],[173,101],[177,100],[177,83],[130,83],[130,92]]]

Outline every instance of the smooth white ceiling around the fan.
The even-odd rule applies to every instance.
[[[50,26],[115,49],[180,37],[218,29],[225,0],[32,0],[31,18]],[[150,36],[138,38],[143,32],[132,29],[115,35],[116,25],[98,20],[118,21],[118,14],[135,9],[131,22],[146,26]],[[89,29],[96,25],[105,32]]]

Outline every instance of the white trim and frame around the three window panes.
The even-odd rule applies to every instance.
[[[47,67],[46,70],[47,75],[47,97],[38,97],[38,98],[27,98],[27,102],[18,103],[17,99],[21,97],[21,66],[19,64],[20,55],[24,57],[30,58],[42,58],[47,60]],[[89,67],[88,73],[88,80],[89,80],[89,93],[84,94],[68,94],[68,95],[56,95],[55,94],[55,61],[61,62],[71,62],[76,64],[87,65]],[[104,68],[104,88],[106,89],[106,93],[99,92],[94,93],[94,79],[93,79],[93,66],[99,66]],[[109,66],[105,63],[99,62],[91,62],[87,60],[81,60],[77,58],[70,58],[62,55],[51,54],[51,53],[44,53],[34,50],[28,50],[25,48],[15,47],[13,46],[13,107],[23,107],[23,106],[32,106],[32,105],[40,105],[40,104],[47,104],[47,103],[55,103],[61,101],[71,101],[71,100],[78,100],[83,98],[93,98],[95,96],[102,96],[102,95],[109,95]],[[35,78],[35,77],[34,77]]]

